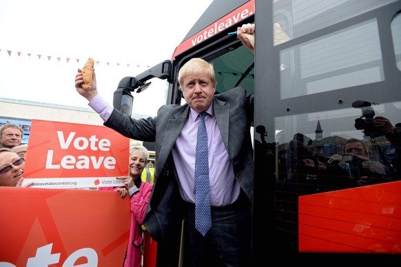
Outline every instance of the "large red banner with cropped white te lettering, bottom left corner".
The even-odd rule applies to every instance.
[[[0,266],[123,266],[130,197],[0,186]]]

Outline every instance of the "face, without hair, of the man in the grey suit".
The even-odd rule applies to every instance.
[[[183,80],[182,90],[189,107],[202,112],[212,105],[216,86],[207,76],[189,75]]]

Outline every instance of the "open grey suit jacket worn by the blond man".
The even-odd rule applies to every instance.
[[[225,148],[234,167],[235,179],[249,197],[254,196],[254,160],[250,127],[254,120],[254,96],[242,87],[216,94],[214,115]],[[172,148],[189,114],[189,106],[163,105],[154,118],[135,120],[114,109],[105,126],[123,136],[155,142],[156,160],[154,189],[147,205],[143,224],[156,242],[163,240],[169,229],[182,223],[183,200],[178,192]]]

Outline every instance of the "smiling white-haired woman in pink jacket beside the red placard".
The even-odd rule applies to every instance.
[[[142,264],[143,236],[141,225],[145,217],[147,202],[152,193],[152,184],[141,180],[141,173],[149,158],[149,151],[142,145],[136,145],[130,149],[130,165],[128,176],[118,177],[125,187],[99,187],[98,190],[118,191],[121,197],[127,192],[131,197],[131,228],[127,253],[125,253],[124,267],[140,267]]]

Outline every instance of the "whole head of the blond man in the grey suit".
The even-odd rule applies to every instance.
[[[201,58],[192,58],[181,68],[178,81],[189,107],[202,112],[212,105],[216,92],[212,64]]]

